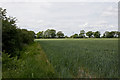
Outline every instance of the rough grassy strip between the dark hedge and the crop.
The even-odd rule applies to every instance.
[[[25,47],[21,54],[18,60],[3,55],[3,78],[48,78],[56,76],[40,44],[34,43]]]

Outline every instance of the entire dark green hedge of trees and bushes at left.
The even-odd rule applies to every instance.
[[[16,18],[6,17],[6,10],[2,10],[2,51],[13,56],[19,56],[19,51],[26,44],[34,41],[35,33],[16,26]]]

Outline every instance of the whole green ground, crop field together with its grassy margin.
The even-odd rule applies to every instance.
[[[118,39],[36,39],[2,54],[2,78],[117,78]]]

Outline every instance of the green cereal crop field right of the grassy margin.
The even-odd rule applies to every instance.
[[[37,39],[59,78],[118,77],[118,39]]]

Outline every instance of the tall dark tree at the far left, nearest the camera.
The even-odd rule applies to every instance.
[[[16,47],[18,47],[17,45],[19,45],[15,21],[16,19],[13,17],[7,18],[6,15],[2,15],[2,51],[7,53],[14,52]]]

